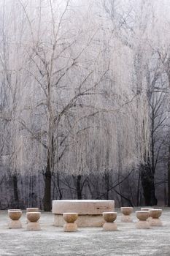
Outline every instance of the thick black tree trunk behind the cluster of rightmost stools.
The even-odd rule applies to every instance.
[[[141,180],[144,194],[144,205],[145,206],[156,206],[158,203],[155,197],[155,179],[150,166],[145,164],[142,165],[141,169]]]

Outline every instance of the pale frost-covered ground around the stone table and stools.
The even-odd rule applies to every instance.
[[[132,215],[136,221],[135,214]],[[0,256],[4,255],[170,255],[170,208],[163,208],[163,227],[136,230],[135,223],[121,223],[117,215],[116,232],[101,228],[81,228],[76,233],[64,233],[53,226],[53,214],[42,212],[41,231],[26,231],[23,212],[22,230],[7,228],[7,211],[0,211]]]

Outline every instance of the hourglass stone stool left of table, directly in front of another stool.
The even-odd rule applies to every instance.
[[[26,217],[28,219],[28,224],[26,227],[28,231],[41,230],[41,227],[38,222],[39,218],[41,217],[40,212],[27,212]]]

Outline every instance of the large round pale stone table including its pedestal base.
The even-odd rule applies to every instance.
[[[104,211],[114,211],[114,200],[53,200],[54,225],[63,226],[63,213],[78,214],[78,227],[102,227]]]

